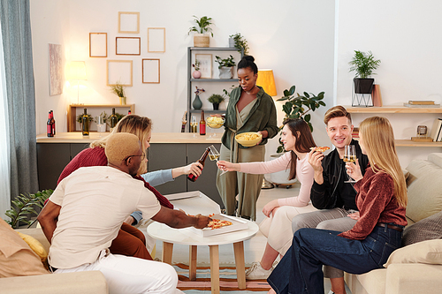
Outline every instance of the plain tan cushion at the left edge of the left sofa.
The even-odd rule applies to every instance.
[[[0,219],[0,277],[43,275],[49,272],[19,234]]]

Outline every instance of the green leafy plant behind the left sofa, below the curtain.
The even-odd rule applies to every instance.
[[[17,229],[20,222],[27,223],[27,228],[31,227],[36,220],[29,221],[29,216],[38,215],[35,211],[35,207],[42,208],[44,201],[50,198],[53,192],[53,190],[43,190],[42,192],[39,191],[34,194],[20,194],[16,199],[11,201],[11,209],[6,210],[4,213],[4,215],[11,218],[11,221],[5,220],[5,222],[8,222],[13,229]]]

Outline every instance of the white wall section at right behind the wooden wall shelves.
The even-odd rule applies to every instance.
[[[438,0],[339,0],[337,43],[337,103],[351,104],[352,79],[348,62],[354,50],[370,50],[381,60],[375,83],[384,105],[408,100],[442,102],[442,2]],[[383,115],[392,122],[396,139],[415,136],[418,124],[431,128],[440,115]],[[354,115],[354,125],[367,115]],[[400,163],[425,159],[440,147],[398,147]]]

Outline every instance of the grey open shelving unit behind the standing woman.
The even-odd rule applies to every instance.
[[[213,109],[193,109],[192,107],[192,99],[194,99],[194,87],[192,83],[234,83],[237,82],[237,79],[193,79],[192,77],[192,57],[194,51],[218,51],[218,52],[238,52],[238,49],[231,47],[187,47],[187,121],[190,121],[190,115],[193,113],[201,113],[201,110],[204,110],[204,113],[214,114],[214,113],[225,113],[225,109],[221,110],[213,110]],[[244,55],[244,50],[241,50],[240,57],[242,58]],[[212,58],[212,70],[215,66],[215,56]],[[235,58],[236,64],[240,62]],[[213,72],[212,72],[213,73]],[[207,90],[206,90],[207,92]],[[190,132],[190,124],[188,124],[187,130]]]

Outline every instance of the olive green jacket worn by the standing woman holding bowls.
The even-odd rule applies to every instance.
[[[225,112],[225,132],[221,139],[223,145],[228,149],[230,149],[231,144],[231,130],[236,130],[237,133],[267,131],[269,136],[263,139],[260,145],[266,144],[268,139],[275,137],[278,133],[275,102],[273,102],[269,94],[264,92],[262,87],[259,87],[259,89],[259,92],[256,94],[257,101],[250,110],[248,117],[246,117],[244,124],[240,127],[240,130],[236,130],[236,103],[240,100],[242,89],[241,87],[236,87],[232,90]],[[248,147],[240,145],[240,148]]]

